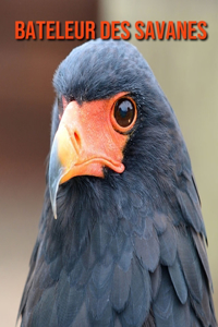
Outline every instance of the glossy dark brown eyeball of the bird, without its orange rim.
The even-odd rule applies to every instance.
[[[114,105],[114,119],[121,128],[128,128],[135,118],[135,106],[129,98],[121,98]]]

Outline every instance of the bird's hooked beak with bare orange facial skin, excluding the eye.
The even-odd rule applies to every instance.
[[[59,184],[76,175],[104,178],[104,168],[124,171],[123,148],[128,135],[114,130],[111,108],[117,98],[68,104],[55,135],[49,161],[49,190],[57,218],[56,197]]]

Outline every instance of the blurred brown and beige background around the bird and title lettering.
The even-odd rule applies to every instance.
[[[218,2],[12,1],[0,4],[0,311],[15,326],[44,201],[52,75],[76,40],[15,40],[15,21],[206,21],[208,38],[135,40],[175,111],[208,234],[218,313]]]

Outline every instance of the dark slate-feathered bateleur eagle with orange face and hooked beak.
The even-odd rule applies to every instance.
[[[86,41],[53,87],[21,326],[216,327],[191,159],[144,57],[129,41]]]

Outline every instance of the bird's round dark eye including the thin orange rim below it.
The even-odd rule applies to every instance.
[[[128,98],[117,100],[113,107],[113,125],[121,132],[129,131],[136,120],[136,105]]]

